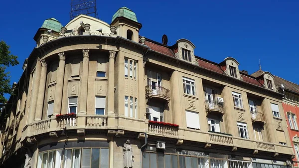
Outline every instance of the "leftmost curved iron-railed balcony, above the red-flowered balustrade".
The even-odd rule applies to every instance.
[[[146,98],[158,98],[169,102],[170,90],[161,86],[148,85],[146,86]]]

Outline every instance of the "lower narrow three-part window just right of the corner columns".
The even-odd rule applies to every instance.
[[[130,109],[129,109],[129,104],[130,104]],[[138,115],[137,108],[138,108],[137,98],[130,96],[130,102],[129,102],[129,96],[125,96],[125,116],[137,118]]]

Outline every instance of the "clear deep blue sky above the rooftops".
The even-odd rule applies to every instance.
[[[9,67],[11,83],[35,47],[33,36],[47,18],[70,20],[71,0],[2,0],[0,40],[10,45],[20,64]],[[161,2],[162,1],[162,2]],[[97,1],[98,17],[108,23],[119,7],[132,9],[143,28],[140,35],[168,45],[186,38],[195,55],[221,62],[227,56],[240,70],[262,69],[299,83],[299,0],[110,0]]]

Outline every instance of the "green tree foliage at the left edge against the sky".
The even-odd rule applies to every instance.
[[[10,54],[9,46],[3,41],[0,41],[0,107],[5,105],[5,93],[11,94],[9,72],[5,72],[6,67],[18,64],[17,56]]]

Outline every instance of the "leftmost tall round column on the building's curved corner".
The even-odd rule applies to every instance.
[[[40,74],[40,83],[38,89],[37,105],[35,110],[34,121],[41,120],[42,107],[43,107],[44,96],[45,96],[45,85],[47,80],[47,63],[45,59],[41,60],[40,63],[41,63],[41,74]]]

